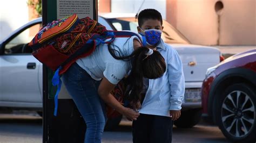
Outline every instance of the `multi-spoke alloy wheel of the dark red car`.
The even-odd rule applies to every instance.
[[[245,83],[233,84],[216,101],[216,120],[225,137],[234,142],[255,142],[255,88]]]

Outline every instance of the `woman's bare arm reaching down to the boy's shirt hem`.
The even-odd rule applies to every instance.
[[[112,108],[116,109],[119,113],[122,113],[130,120],[136,120],[139,116],[138,112],[133,111],[130,108],[125,108],[120,104],[110,92],[114,89],[114,84],[109,82],[105,77],[102,79],[102,82],[99,84],[98,94],[103,99],[103,101],[110,105]]]

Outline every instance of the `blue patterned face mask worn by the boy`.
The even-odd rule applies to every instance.
[[[154,46],[158,44],[159,40],[161,39],[161,30],[150,29],[143,31],[142,28],[140,28],[140,30],[142,31],[140,32],[140,35],[143,37],[143,46],[146,46],[146,44]]]

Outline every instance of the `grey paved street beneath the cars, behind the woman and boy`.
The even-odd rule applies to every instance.
[[[1,143],[42,142],[42,118],[35,115],[0,114]],[[132,142],[131,122],[122,120],[111,132],[104,132],[103,142]],[[173,128],[173,142],[228,142],[217,126],[204,121],[189,129]]]

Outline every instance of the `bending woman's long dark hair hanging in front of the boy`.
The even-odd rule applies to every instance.
[[[116,49],[108,46],[110,54],[117,60],[131,60],[132,69],[125,79],[125,96],[130,102],[136,104],[140,101],[140,94],[143,89],[143,77],[156,79],[163,76],[166,64],[163,56],[158,51],[146,55],[150,51],[147,47],[139,47],[130,55],[122,56]],[[116,53],[119,55],[117,56]]]

